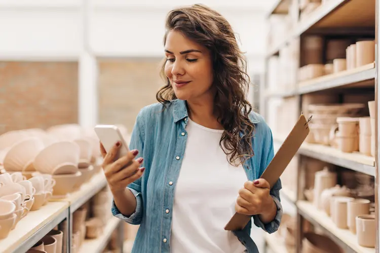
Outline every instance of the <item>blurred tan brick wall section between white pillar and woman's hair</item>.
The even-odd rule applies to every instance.
[[[99,61],[99,122],[124,124],[131,132],[139,110],[156,103],[163,85],[161,59]]]

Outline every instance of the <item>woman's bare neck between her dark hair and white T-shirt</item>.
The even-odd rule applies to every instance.
[[[189,117],[196,123],[210,129],[223,130],[223,126],[214,115],[214,105],[212,96],[207,99],[187,100]]]

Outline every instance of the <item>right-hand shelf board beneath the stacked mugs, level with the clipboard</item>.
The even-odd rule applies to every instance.
[[[298,150],[301,155],[375,176],[375,158],[360,153],[344,153],[333,147],[303,143]]]

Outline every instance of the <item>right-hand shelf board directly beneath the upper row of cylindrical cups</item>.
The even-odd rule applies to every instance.
[[[332,88],[357,87],[362,86],[374,88],[375,64],[370,63],[355,69],[349,69],[334,74],[324,75],[311,80],[298,83],[298,94],[323,91]],[[371,82],[365,82],[373,80]],[[364,83],[365,82],[365,83]],[[356,86],[354,86],[356,84]]]

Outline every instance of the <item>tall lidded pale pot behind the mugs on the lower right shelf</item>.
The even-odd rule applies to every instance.
[[[318,209],[323,209],[321,201],[321,193],[325,189],[332,188],[336,185],[336,173],[329,172],[328,168],[325,167],[322,171],[315,174],[315,183],[314,183],[314,205]]]

